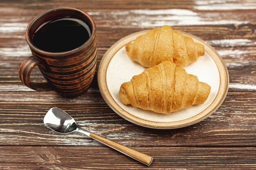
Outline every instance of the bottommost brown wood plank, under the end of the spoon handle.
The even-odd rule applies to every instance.
[[[1,170],[252,170],[256,148],[134,147],[154,157],[147,167],[107,147],[0,147]],[[204,156],[202,156],[202,154]],[[22,156],[21,156],[22,155]]]

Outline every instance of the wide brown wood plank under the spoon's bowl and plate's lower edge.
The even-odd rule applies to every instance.
[[[173,129],[144,128],[124,120],[99,91],[74,99],[54,92],[0,93],[0,145],[101,146],[79,134],[58,135],[43,125],[52,107],[70,113],[82,128],[127,146],[255,146],[256,92],[229,92],[213,115],[198,124]]]

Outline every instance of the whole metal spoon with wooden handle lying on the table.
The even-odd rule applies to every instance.
[[[76,121],[60,108],[51,108],[45,115],[44,124],[48,128],[61,134],[68,134],[74,131],[81,132],[84,135],[87,135],[88,137],[91,137],[92,139],[95,139],[102,144],[105,144],[106,146],[109,146],[110,148],[113,148],[123,153],[124,155],[127,155],[128,157],[131,157],[145,164],[146,166],[150,166],[150,163],[153,160],[153,157],[150,157],[149,155],[118,144],[117,142],[106,139],[105,137],[96,135],[95,133],[89,132],[88,130],[79,128],[76,124]]]

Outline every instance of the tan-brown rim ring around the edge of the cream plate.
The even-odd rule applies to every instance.
[[[203,119],[206,119],[207,117],[209,117],[212,113],[214,113],[220,107],[220,105],[222,104],[222,102],[224,101],[224,99],[227,95],[228,86],[229,86],[229,73],[228,73],[228,70],[227,70],[227,66],[225,65],[222,57],[220,57],[220,55],[217,53],[217,51],[212,46],[207,44],[204,40],[196,37],[195,35],[191,35],[191,34],[185,33],[185,32],[181,32],[181,33],[183,35],[186,35],[186,36],[189,36],[189,37],[193,38],[194,40],[196,40],[196,41],[198,41],[198,42],[200,42],[201,44],[204,45],[205,51],[213,59],[213,61],[216,63],[216,66],[218,68],[218,72],[219,72],[219,75],[220,75],[220,85],[219,85],[219,89],[218,89],[218,93],[216,94],[216,97],[209,104],[209,106],[204,108],[204,110],[202,110],[197,115],[194,115],[194,116],[189,117],[187,119],[183,119],[183,120],[179,120],[179,121],[171,121],[171,122],[159,122],[159,121],[150,121],[150,120],[142,119],[140,117],[132,115],[131,113],[128,113],[126,110],[124,110],[119,104],[117,104],[115,99],[110,94],[110,92],[108,90],[107,82],[106,82],[106,73],[107,73],[108,65],[109,65],[110,61],[112,60],[112,58],[115,56],[115,54],[121,48],[123,48],[125,46],[125,44],[135,40],[135,38],[137,36],[143,35],[147,31],[148,30],[138,31],[138,32],[132,33],[130,35],[127,35],[124,38],[121,38],[120,40],[115,42],[106,51],[106,53],[101,58],[101,62],[99,64],[99,69],[98,69],[98,74],[97,74],[97,81],[98,81],[98,86],[99,86],[100,93],[101,93],[103,99],[108,104],[108,106],[110,106],[110,108],[112,108],[112,110],[114,110],[115,113],[117,113],[119,116],[123,117],[124,119],[126,119],[126,120],[128,120],[128,121],[130,121],[134,124],[137,124],[139,126],[144,126],[144,127],[147,127],[147,128],[154,128],[154,129],[182,128],[182,127],[190,126],[192,124],[196,124],[196,123],[202,121]],[[126,43],[124,43],[124,42],[126,42]],[[114,51],[114,52],[112,52],[112,51]],[[209,52],[211,52],[211,53],[209,53]],[[110,53],[110,56],[108,56],[109,53]],[[212,55],[215,55],[215,56],[212,56]],[[106,64],[106,63],[104,63],[104,61],[107,60],[107,59],[108,59],[108,63]],[[103,73],[103,71],[102,71],[103,69],[106,70],[105,73]],[[105,89],[104,89],[104,84],[105,84]],[[106,93],[108,93],[108,94],[106,94]],[[216,101],[217,98],[218,98],[218,101]],[[115,108],[114,106],[112,106],[113,104],[111,102],[114,102],[117,105],[117,107],[119,107],[119,108]],[[214,106],[211,106],[211,105],[214,105]],[[211,109],[208,112],[205,111],[205,110],[209,109],[210,106],[211,106]],[[130,114],[129,115],[130,117],[127,117],[127,115],[124,114],[125,112]],[[204,113],[204,115],[201,115],[203,112],[207,112],[207,113]],[[198,117],[198,115],[201,115],[201,116]],[[131,117],[133,117],[133,119]],[[198,117],[198,118],[195,118],[195,117]],[[189,119],[190,119],[190,121],[189,121]]]

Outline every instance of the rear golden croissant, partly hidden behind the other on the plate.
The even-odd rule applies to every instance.
[[[180,31],[164,25],[152,29],[126,44],[126,53],[131,60],[142,66],[152,67],[163,61],[171,61],[178,67],[195,62],[204,55],[204,46]]]

